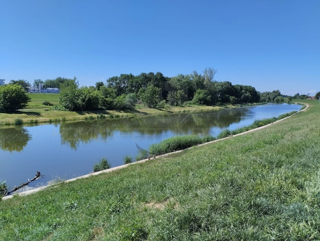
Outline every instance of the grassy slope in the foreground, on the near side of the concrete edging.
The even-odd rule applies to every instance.
[[[319,240],[320,105],[301,102],[255,133],[2,201],[0,240]]]

